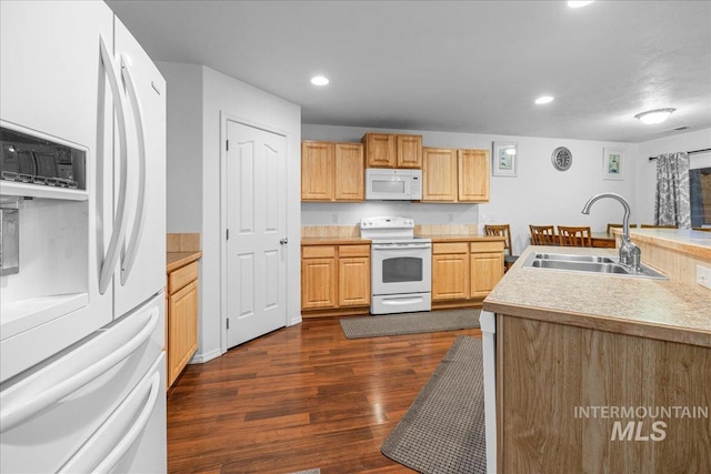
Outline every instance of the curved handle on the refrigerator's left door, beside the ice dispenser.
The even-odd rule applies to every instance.
[[[101,63],[103,64],[103,69],[106,71],[107,78],[109,79],[109,84],[111,85],[111,93],[113,95],[113,105],[114,112],[117,115],[117,125],[119,129],[119,155],[120,155],[120,173],[121,181],[119,184],[119,201],[116,209],[116,218],[113,220],[113,230],[111,232],[111,240],[109,241],[109,248],[107,250],[107,254],[103,258],[103,262],[101,262],[101,272],[99,274],[99,293],[106,293],[109,288],[109,282],[111,281],[111,275],[113,274],[113,269],[119,260],[120,254],[120,244],[123,242],[126,238],[126,228],[129,220],[129,209],[126,205],[127,201],[127,178],[128,178],[128,158],[127,158],[127,148],[128,142],[126,138],[126,117],[123,112],[123,95],[121,95],[121,90],[119,89],[119,81],[117,79],[117,73],[113,68],[113,60],[107,46],[103,42],[103,38],[99,38],[100,51],[101,51]],[[98,180],[100,191],[101,186],[103,186],[102,180]]]

